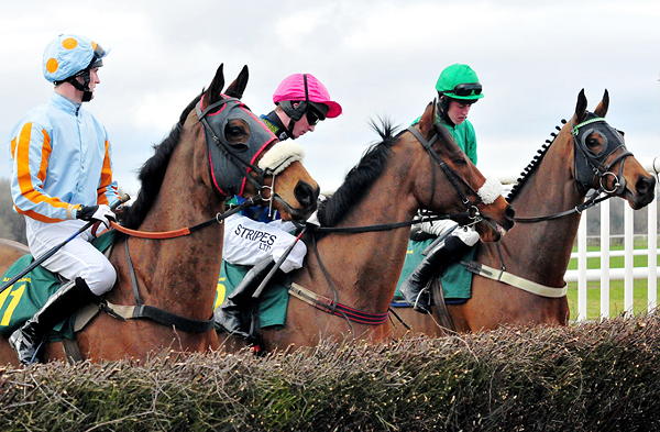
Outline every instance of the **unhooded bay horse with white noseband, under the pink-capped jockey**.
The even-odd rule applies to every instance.
[[[440,213],[479,208],[483,241],[497,241],[513,226],[514,211],[448,131],[435,126],[436,104],[420,121],[394,135],[387,122],[383,141],[349,171],[342,186],[319,208],[322,226],[336,229],[413,221],[419,208]],[[492,186],[492,185],[491,185]],[[490,189],[490,190],[487,190]],[[490,193],[490,196],[488,196]],[[388,228],[388,226],[386,226]],[[292,287],[310,292],[290,297],[283,329],[263,329],[262,347],[314,346],[323,339],[389,339],[387,310],[402,270],[410,224],[386,231],[327,233],[306,241],[305,265],[292,275]],[[318,236],[318,239],[317,239]],[[317,296],[317,302],[300,298]],[[355,319],[358,317],[358,319]],[[365,323],[369,321],[372,325]],[[221,333],[229,350],[235,341]]]

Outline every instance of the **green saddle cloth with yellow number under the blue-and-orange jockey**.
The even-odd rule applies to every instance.
[[[105,252],[114,242],[114,231],[95,239],[91,244]],[[32,255],[23,255],[7,270],[2,283],[10,280],[34,262]],[[62,281],[54,273],[42,266],[36,267],[12,286],[0,293],[0,334],[9,337],[14,330],[25,323],[40,310],[48,298],[57,291]],[[52,339],[74,337],[74,318],[65,320],[53,328]]]

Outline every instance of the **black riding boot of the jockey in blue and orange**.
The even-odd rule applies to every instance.
[[[79,308],[97,299],[85,279],[80,277],[62,285],[34,317],[9,337],[9,343],[16,351],[19,361],[24,365],[37,363],[48,332]]]

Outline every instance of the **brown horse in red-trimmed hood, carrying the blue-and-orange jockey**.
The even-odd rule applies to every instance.
[[[246,82],[244,67],[221,95],[222,65],[218,68],[209,89],[184,110],[170,135],[155,146],[154,156],[142,167],[142,188],[135,203],[127,210],[127,226],[148,232],[180,229],[216,218],[224,211],[224,201],[232,193],[246,197],[261,193],[268,198],[270,188],[262,185],[272,184],[272,167],[261,169],[255,165],[264,155],[272,158],[268,155],[278,148],[275,145],[278,141],[239,101]],[[244,164],[227,163],[234,157],[231,152]],[[285,219],[306,218],[316,209],[319,188],[299,158],[292,160],[277,175],[274,206]],[[231,169],[239,176],[223,178]],[[135,304],[127,242],[144,304],[185,320],[208,322],[221,262],[218,251],[222,250],[222,224],[218,226],[213,221],[209,228],[168,240],[120,239],[110,256],[118,280],[107,296],[108,301],[117,304]],[[0,269],[4,270],[9,264],[2,263]],[[199,272],[200,268],[207,270]],[[85,358],[144,358],[163,348],[202,352],[217,347],[217,334],[208,329],[190,332],[177,324],[162,325],[145,319],[120,321],[101,313],[78,333],[77,341]],[[47,359],[62,358],[63,354],[61,343],[51,343],[45,350]],[[2,339],[0,361],[15,363],[14,358],[15,354]]]

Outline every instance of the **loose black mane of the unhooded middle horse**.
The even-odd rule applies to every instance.
[[[337,225],[369,193],[373,182],[385,169],[392,145],[397,141],[398,126],[389,120],[380,119],[381,125],[371,121],[372,129],[381,136],[381,142],[372,144],[362,158],[346,174],[343,184],[328,200],[319,206],[319,221],[322,226]]]

